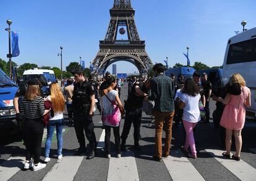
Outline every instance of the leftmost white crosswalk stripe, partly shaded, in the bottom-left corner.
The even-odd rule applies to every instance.
[[[13,175],[23,168],[25,156],[12,156],[0,166],[0,180],[9,180]]]

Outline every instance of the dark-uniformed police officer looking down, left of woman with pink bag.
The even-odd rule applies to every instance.
[[[74,95],[72,97],[72,107],[74,108],[74,127],[79,141],[79,149],[75,155],[85,153],[85,135],[90,143],[91,151],[87,156],[87,159],[95,157],[96,151],[96,137],[93,132],[93,108],[95,106],[95,94],[92,90],[92,85],[86,82],[82,70],[75,70],[73,72],[75,81]],[[85,135],[83,133],[85,130]]]

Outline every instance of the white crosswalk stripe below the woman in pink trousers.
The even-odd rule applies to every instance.
[[[189,159],[179,149],[171,151],[172,156],[163,158],[163,162],[168,169],[171,178],[176,180],[205,180],[197,169],[191,164]]]

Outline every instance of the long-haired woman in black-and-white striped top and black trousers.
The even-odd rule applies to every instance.
[[[44,99],[40,96],[39,82],[36,79],[28,81],[27,92],[20,100],[20,113],[25,115],[24,143],[26,146],[26,161],[24,169],[43,169],[46,164],[40,163],[41,143],[43,138],[42,116],[48,114],[45,110]],[[33,155],[34,163],[31,158]]]

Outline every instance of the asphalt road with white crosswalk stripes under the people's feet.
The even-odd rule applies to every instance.
[[[126,99],[127,85],[122,88],[121,99]],[[215,109],[210,102],[211,112]],[[67,115],[65,115],[67,117]],[[182,125],[173,127],[171,153],[162,162],[153,161],[151,156],[155,148],[155,129],[150,124],[150,116],[143,115],[141,127],[142,149],[134,150],[133,128],[127,138],[129,151],[122,153],[122,158],[115,159],[114,137],[111,135],[112,158],[105,158],[104,130],[101,129],[101,117],[95,112],[96,140],[98,156],[87,160],[84,156],[72,156],[79,147],[74,127],[64,127],[64,157],[56,158],[57,143],[53,139],[50,158],[45,169],[33,172],[23,170],[25,147],[19,135],[2,137],[0,142],[0,180],[255,180],[256,176],[256,123],[246,122],[242,130],[242,161],[223,159],[220,154],[221,144],[219,130],[209,124],[199,123],[195,130],[197,159],[186,158],[179,149],[184,142]],[[121,122],[121,131],[124,120]],[[46,132],[45,132],[46,133]],[[164,142],[163,133],[163,142]],[[45,138],[45,137],[44,137]],[[87,141],[88,144],[88,141]],[[42,143],[42,161],[44,158],[45,139]],[[234,151],[234,146],[233,146]]]

